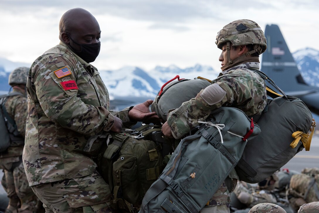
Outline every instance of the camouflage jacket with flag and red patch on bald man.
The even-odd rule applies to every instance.
[[[92,174],[115,116],[133,125],[128,108],[108,110],[97,69],[62,42],[33,62],[26,87],[23,163],[30,186]],[[86,144],[91,149],[85,151]]]

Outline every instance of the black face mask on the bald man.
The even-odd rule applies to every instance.
[[[94,44],[79,44],[71,38],[70,34],[68,34],[68,35],[73,43],[76,43],[76,44],[80,45],[80,47],[81,47],[81,50],[77,51],[77,50],[73,49],[70,45],[72,51],[75,54],[77,54],[79,57],[81,57],[86,63],[91,63],[91,62],[95,61],[96,57],[98,57],[98,55],[100,53],[101,42],[94,43]]]

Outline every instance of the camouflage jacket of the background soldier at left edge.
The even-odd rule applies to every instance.
[[[19,92],[21,94],[26,93],[19,87],[13,87],[11,93],[13,92]],[[10,96],[4,103],[4,107],[9,116],[14,119],[17,125],[19,136],[21,136],[21,138],[24,138],[26,134],[26,117],[28,115],[28,102],[26,97],[20,95]],[[6,151],[0,153],[0,158],[21,156],[23,147],[24,145],[11,146]]]

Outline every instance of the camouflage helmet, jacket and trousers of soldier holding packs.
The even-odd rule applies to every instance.
[[[247,32],[247,27],[245,28],[243,24],[250,26],[249,28],[252,30]],[[229,31],[236,31],[236,34],[230,34]],[[239,39],[242,36],[246,37],[243,41]],[[252,38],[251,41],[249,38]],[[218,48],[221,48],[224,43],[229,45],[229,42],[232,42],[234,46],[256,44],[256,49],[249,52],[251,54],[255,52],[261,54],[267,47],[262,30],[255,22],[250,20],[234,21],[226,25],[219,31],[216,39]],[[167,124],[171,128],[174,138],[179,139],[189,133],[192,128],[198,126],[198,121],[204,121],[214,109],[221,106],[236,107],[243,110],[247,116],[261,114],[267,104],[266,84],[252,69],[259,70],[258,57],[241,57],[234,64],[229,61],[227,69],[221,72],[217,79],[212,81],[212,84],[218,84],[226,91],[226,95],[219,103],[209,105],[201,97],[203,89],[195,98],[184,102],[181,107],[169,112]],[[224,209],[227,209],[225,211],[229,212],[230,193],[234,190],[237,179],[238,176],[234,172],[234,175],[229,176],[227,180],[232,186],[228,189],[225,187],[226,183],[224,182],[206,207],[224,205]]]

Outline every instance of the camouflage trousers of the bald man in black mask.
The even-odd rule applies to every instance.
[[[46,212],[102,213],[109,208],[111,191],[99,173],[32,186]]]

